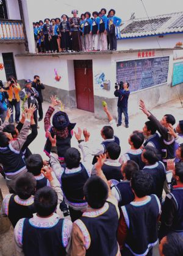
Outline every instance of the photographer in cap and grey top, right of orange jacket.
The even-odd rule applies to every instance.
[[[20,98],[23,101],[23,108],[29,108],[30,104],[35,104],[36,109],[34,111],[34,121],[37,125],[37,109],[38,109],[38,101],[37,98],[39,97],[39,93],[37,90],[32,87],[32,81],[30,79],[27,79],[25,81],[25,86],[20,92]],[[37,126],[37,128],[39,128]]]

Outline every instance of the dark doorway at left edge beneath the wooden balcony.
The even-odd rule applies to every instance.
[[[2,59],[4,62],[6,79],[8,79],[10,76],[13,76],[16,79],[16,71],[15,71],[13,53],[2,53]]]

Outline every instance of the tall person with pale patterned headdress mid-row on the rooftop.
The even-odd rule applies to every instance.
[[[70,26],[71,26],[71,35],[72,35],[72,42],[73,42],[73,51],[81,51],[81,37],[79,32],[80,27],[80,18],[77,17],[78,10],[72,10],[71,12],[73,17],[70,18]]]

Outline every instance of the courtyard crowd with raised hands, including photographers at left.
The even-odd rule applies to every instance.
[[[7,108],[0,126],[1,174],[10,193],[1,215],[12,222],[17,254],[149,256],[160,242],[161,256],[182,256],[183,120],[174,129],[173,115],[159,121],[140,100],[148,120],[142,131],[132,132],[129,150],[121,155],[108,106],[109,124],[96,145],[87,129],[74,129],[66,112],[56,111],[60,101],[52,96],[44,117],[49,161],[43,161],[29,150],[38,134],[34,98],[44,89],[39,76],[35,79],[35,87],[27,80],[20,93],[26,103],[21,119],[16,113],[12,123],[12,108]],[[17,84],[14,88],[20,90]],[[9,101],[15,100],[10,90],[1,94],[7,92]],[[73,135],[79,148],[71,147]],[[64,218],[57,215],[58,205]]]

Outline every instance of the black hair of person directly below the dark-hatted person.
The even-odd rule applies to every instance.
[[[65,152],[64,159],[68,169],[77,168],[81,161],[81,154],[76,148],[68,148]]]

